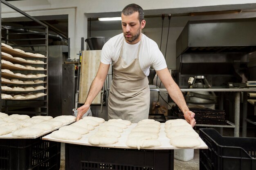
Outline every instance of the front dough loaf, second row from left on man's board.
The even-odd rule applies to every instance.
[[[118,142],[117,137],[113,135],[101,134],[92,135],[88,138],[88,142],[92,145],[112,145]]]

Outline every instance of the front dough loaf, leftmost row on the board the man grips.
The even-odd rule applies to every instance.
[[[56,130],[51,133],[51,137],[61,140],[78,140],[82,138],[82,135],[70,130]]]

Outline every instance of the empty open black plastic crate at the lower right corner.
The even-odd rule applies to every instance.
[[[256,138],[222,137],[215,129],[200,129],[208,149],[200,149],[200,170],[256,170]]]

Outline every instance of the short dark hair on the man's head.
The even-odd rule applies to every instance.
[[[128,4],[126,7],[124,7],[121,14],[128,16],[135,12],[139,13],[139,23],[141,23],[141,21],[144,20],[144,10],[137,4]]]

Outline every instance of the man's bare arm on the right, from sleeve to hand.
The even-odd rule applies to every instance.
[[[189,110],[188,106],[186,105],[185,99],[180,91],[179,86],[174,82],[171,74],[169,73],[167,68],[162,70],[156,71],[158,77],[164,84],[168,94],[173,99],[173,101],[179,106],[182,110],[186,121],[191,124],[192,127],[195,126],[195,113]]]

